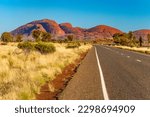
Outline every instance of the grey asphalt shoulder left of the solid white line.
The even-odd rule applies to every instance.
[[[60,100],[103,99],[94,47],[79,66],[77,73],[59,96]]]

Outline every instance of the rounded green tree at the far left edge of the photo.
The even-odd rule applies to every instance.
[[[13,41],[13,35],[9,32],[4,32],[1,36],[1,39],[3,42],[12,42]]]

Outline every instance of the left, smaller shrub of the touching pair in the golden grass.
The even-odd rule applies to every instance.
[[[18,48],[23,50],[35,50],[35,44],[32,42],[23,42],[18,44]]]

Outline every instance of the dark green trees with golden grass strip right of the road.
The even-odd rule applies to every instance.
[[[137,39],[132,32],[127,34],[114,34],[113,38],[116,44],[115,47],[117,48],[150,54],[150,34],[147,35],[147,46],[145,47],[142,37],[140,36]]]

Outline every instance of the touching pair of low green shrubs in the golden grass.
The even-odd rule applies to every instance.
[[[41,53],[52,53],[56,51],[56,48],[53,44],[45,42],[38,42],[38,43],[23,42],[18,44],[18,48],[28,51],[36,50]]]

